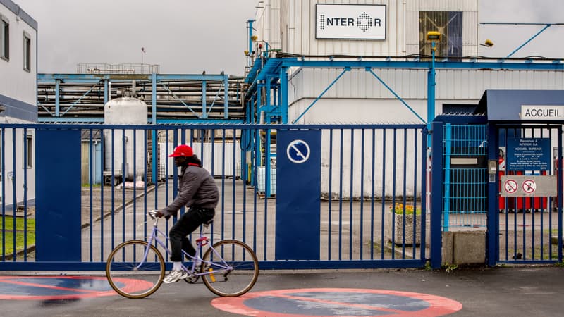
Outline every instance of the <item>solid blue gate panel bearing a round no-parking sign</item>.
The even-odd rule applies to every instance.
[[[319,260],[321,130],[278,130],[276,260]]]

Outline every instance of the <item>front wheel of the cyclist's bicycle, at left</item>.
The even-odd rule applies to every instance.
[[[123,242],[108,256],[106,278],[111,288],[123,297],[147,297],[163,282],[163,256],[154,246],[147,246],[145,241]]]

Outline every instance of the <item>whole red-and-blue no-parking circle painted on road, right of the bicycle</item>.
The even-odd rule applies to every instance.
[[[246,316],[442,316],[462,304],[429,294],[391,290],[312,288],[247,293],[212,300],[216,309]]]

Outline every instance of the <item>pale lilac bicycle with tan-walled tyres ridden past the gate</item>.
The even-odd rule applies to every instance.
[[[111,251],[106,261],[106,278],[111,288],[123,297],[147,297],[156,292],[163,282],[165,262],[156,245],[163,247],[169,256],[171,251],[158,237],[161,234],[168,239],[168,236],[157,228],[159,218],[155,216],[156,212],[147,212],[147,215],[154,220],[147,241],[125,241]],[[213,220],[210,220],[204,226],[207,227],[212,222]],[[183,256],[192,261],[189,267],[182,263],[183,270],[188,273],[186,282],[195,283],[202,277],[204,285],[214,294],[222,297],[245,294],[257,282],[259,261],[247,244],[238,240],[221,240],[212,245],[208,238],[202,235],[201,230],[196,244],[198,252],[195,256],[182,251]],[[201,256],[206,245],[208,249]],[[197,266],[196,263],[201,264]],[[124,276],[126,271],[130,273]],[[155,271],[158,272],[157,277],[154,276]],[[135,279],[130,278],[131,276],[135,276]],[[242,286],[238,287],[238,284]]]

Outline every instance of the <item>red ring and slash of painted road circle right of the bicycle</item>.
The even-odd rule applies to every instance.
[[[413,299],[418,299],[426,303],[428,307],[417,311],[409,310],[409,307],[407,307],[406,310],[402,310],[402,309],[397,309],[398,306],[401,306],[401,304],[393,304],[393,306],[396,306],[396,309],[391,309],[386,307],[386,303],[374,303],[374,305],[358,304],[351,302],[333,301],[327,299],[317,299],[312,297],[293,295],[298,292],[312,292],[312,293],[326,292],[329,295],[331,295],[331,293],[335,293],[336,297],[338,297],[339,294],[346,294],[346,293],[383,294],[383,295],[388,295],[398,298],[405,297],[406,306],[409,306],[409,302],[412,301]],[[442,316],[449,313],[454,313],[462,309],[462,304],[452,299],[448,299],[446,297],[438,297],[429,294],[398,292],[398,291],[390,291],[390,290],[360,290],[360,289],[345,289],[345,288],[314,288],[314,289],[300,289],[300,290],[274,290],[274,291],[266,291],[266,292],[252,292],[252,293],[247,293],[241,297],[219,297],[212,300],[212,305],[217,309],[221,309],[223,311],[238,313],[246,316],[272,316],[272,317],[309,316],[309,315],[302,315],[295,313],[285,313],[283,312],[283,307],[280,307],[283,305],[277,306],[273,304],[272,307],[269,307],[268,311],[255,309],[253,307],[245,305],[245,301],[247,300],[260,299],[262,297],[271,300],[273,298],[274,300],[276,300],[276,298],[290,299],[290,300],[295,299],[298,302],[312,302],[312,303],[328,304],[332,306],[336,305],[342,307],[342,309],[338,312],[338,314],[334,316],[343,316],[343,310],[346,311],[346,309],[351,309],[351,310],[365,309],[372,311],[382,311],[383,315],[373,315],[373,316],[390,316],[390,317],[391,316],[393,317]],[[383,299],[383,301],[385,301],[385,299]],[[348,316],[353,316],[353,315],[348,315]]]

